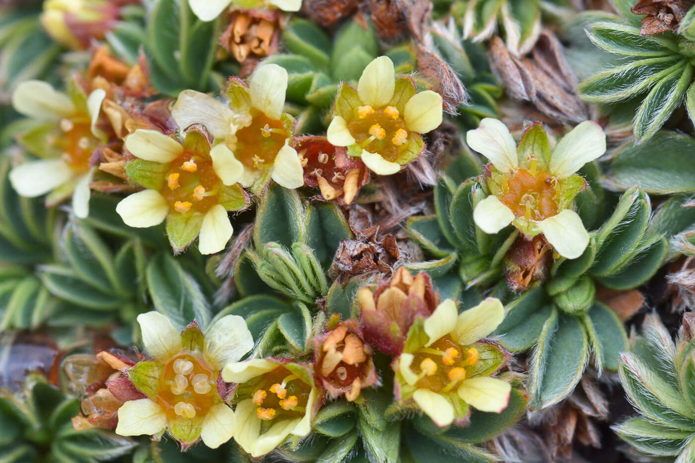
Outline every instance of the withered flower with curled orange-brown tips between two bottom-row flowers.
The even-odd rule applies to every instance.
[[[316,375],[330,396],[344,395],[352,402],[362,388],[377,382],[372,348],[359,334],[357,320],[338,323],[316,336],[313,346]]]

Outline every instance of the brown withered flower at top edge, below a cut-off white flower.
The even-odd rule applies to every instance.
[[[247,58],[265,58],[277,51],[281,17],[280,10],[270,8],[234,10],[220,44],[239,63]]]

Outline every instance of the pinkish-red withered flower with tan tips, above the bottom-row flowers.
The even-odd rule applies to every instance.
[[[359,318],[364,339],[378,350],[398,355],[403,350],[408,330],[416,317],[426,318],[439,305],[439,293],[426,273],[415,277],[401,267],[391,281],[377,289],[357,292],[361,307]]]

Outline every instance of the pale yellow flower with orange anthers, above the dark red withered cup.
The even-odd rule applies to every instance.
[[[327,138],[373,172],[395,174],[424,151],[420,134],[439,127],[442,111],[439,93],[416,93],[413,80],[395,79],[391,59],[379,56],[364,68],[357,90],[347,83],[338,88]]]

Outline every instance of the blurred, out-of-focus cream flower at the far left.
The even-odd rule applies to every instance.
[[[90,182],[97,170],[90,158],[106,142],[104,132],[97,127],[106,92],[97,89],[87,97],[76,84],[71,85],[72,97],[42,81],[17,86],[13,106],[37,122],[19,135],[19,143],[40,160],[17,165],[10,172],[10,182],[19,195],[26,197],[50,192],[47,206],[72,194],[72,211],[85,218],[89,213]]]

